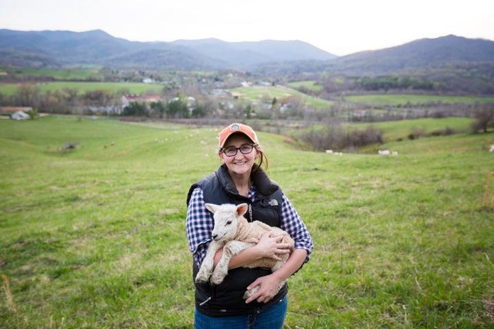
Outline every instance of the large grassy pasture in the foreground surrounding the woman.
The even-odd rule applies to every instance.
[[[192,328],[185,196],[219,165],[216,136],[1,120],[0,328]],[[285,328],[493,328],[494,134],[389,158],[259,139],[315,245]]]

